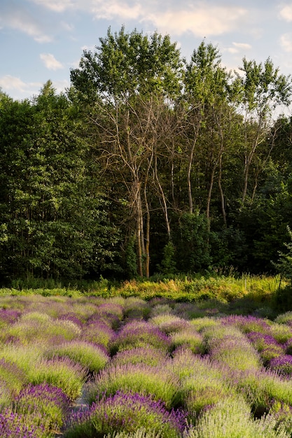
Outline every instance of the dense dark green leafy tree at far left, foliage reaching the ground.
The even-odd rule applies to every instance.
[[[33,102],[6,101],[1,110],[6,276],[80,278],[113,267],[118,229],[92,185],[74,106],[48,82]]]

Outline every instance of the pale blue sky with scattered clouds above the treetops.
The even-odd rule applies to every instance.
[[[0,0],[0,88],[31,99],[51,80],[70,85],[83,50],[124,26],[144,34],[169,34],[190,60],[204,40],[218,48],[222,65],[272,59],[292,73],[292,1],[289,0]]]

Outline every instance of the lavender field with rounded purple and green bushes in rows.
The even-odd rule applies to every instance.
[[[292,312],[0,296],[3,438],[292,435]]]

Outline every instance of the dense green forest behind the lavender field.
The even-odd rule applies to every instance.
[[[0,92],[0,271],[274,272],[292,227],[291,79],[205,41],[108,30],[71,86]]]

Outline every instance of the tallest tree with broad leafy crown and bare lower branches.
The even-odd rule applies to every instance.
[[[88,118],[97,132],[97,158],[111,181],[118,178],[136,234],[139,275],[149,275],[150,215],[148,185],[157,174],[155,108],[172,106],[179,93],[181,60],[169,36],[108,30],[95,52],[85,51],[71,83],[89,103]],[[129,233],[132,234],[132,231]]]

